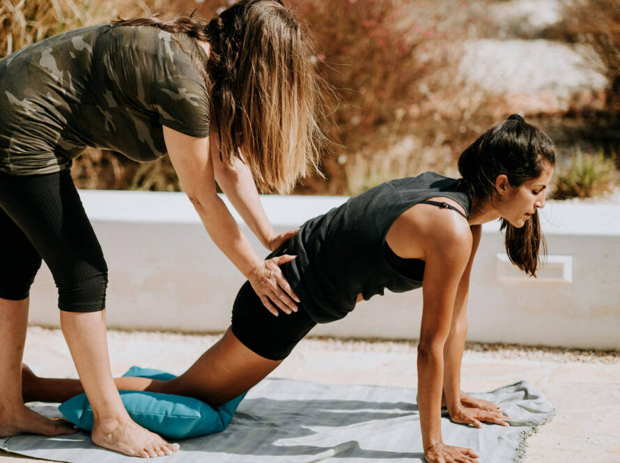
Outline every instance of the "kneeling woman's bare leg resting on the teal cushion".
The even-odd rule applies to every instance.
[[[237,397],[266,377],[282,360],[269,360],[245,347],[231,328],[194,365],[175,379],[122,377],[116,388],[195,397],[212,407]],[[24,367],[24,397],[42,402],[63,402],[84,392],[78,379],[35,377]]]

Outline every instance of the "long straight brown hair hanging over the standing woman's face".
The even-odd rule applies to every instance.
[[[327,139],[321,128],[324,82],[311,35],[279,0],[241,0],[206,22],[183,15],[112,24],[154,26],[210,44],[206,80],[219,155],[244,160],[263,191],[290,192],[318,172]]]

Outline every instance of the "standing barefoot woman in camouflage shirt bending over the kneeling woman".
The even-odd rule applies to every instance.
[[[296,309],[279,268],[293,256],[259,258],[215,182],[267,248],[293,236],[274,233],[254,179],[287,192],[316,167],[323,135],[312,56],[307,31],[281,1],[242,0],[210,21],[118,20],[47,38],[0,61],[0,437],[75,431],[22,402],[29,288],[45,259],[93,406],[93,442],[142,457],[178,448],[133,423],[114,387],[107,266],[69,170],[86,146],[138,161],[167,152],[208,234],[261,306],[275,315]],[[272,317],[265,308],[257,309]]]

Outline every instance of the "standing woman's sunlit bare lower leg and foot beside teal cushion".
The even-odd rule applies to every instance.
[[[93,408],[91,439],[98,446],[130,456],[170,455],[178,446],[134,423],[123,407],[110,368],[105,311],[61,310],[61,328],[77,374]],[[21,365],[20,365],[21,366]]]

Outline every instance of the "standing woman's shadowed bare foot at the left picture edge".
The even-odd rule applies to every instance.
[[[22,408],[23,407],[23,408]],[[16,436],[25,432],[43,436],[74,434],[78,429],[65,420],[50,420],[25,405],[15,410],[0,409],[0,437]]]

